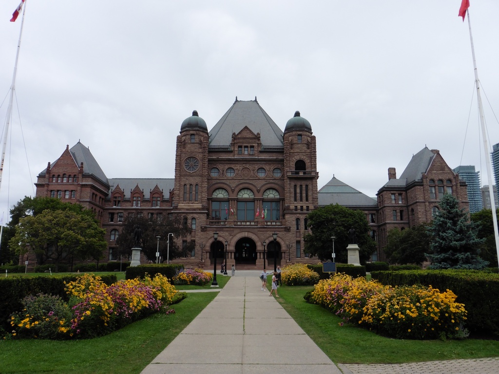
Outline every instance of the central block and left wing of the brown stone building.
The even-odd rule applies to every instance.
[[[196,111],[180,126],[175,179],[108,179],[78,142],[38,175],[37,196],[78,202],[106,229],[108,260],[126,214],[180,214],[195,242],[187,266],[210,268],[227,246],[228,266],[261,269],[307,262],[306,214],[317,207],[315,136],[296,112],[284,132],[254,101],[236,101],[208,131]],[[214,233],[218,233],[215,241]],[[273,239],[276,233],[276,240]],[[180,243],[182,241],[182,243]],[[266,259],[264,260],[264,256]]]

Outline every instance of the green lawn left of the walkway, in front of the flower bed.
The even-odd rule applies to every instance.
[[[157,313],[101,338],[0,341],[0,373],[140,373],[217,295],[190,293],[175,314]]]

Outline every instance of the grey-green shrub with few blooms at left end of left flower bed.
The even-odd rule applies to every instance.
[[[10,324],[15,328],[13,336],[58,339],[69,331],[71,310],[59,296],[26,296],[21,303],[22,312],[10,317]]]

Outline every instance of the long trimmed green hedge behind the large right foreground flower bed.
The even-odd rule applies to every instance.
[[[376,271],[372,279],[384,285],[421,284],[441,291],[451,290],[456,302],[468,311],[466,328],[474,333],[499,336],[499,274],[478,270]]]

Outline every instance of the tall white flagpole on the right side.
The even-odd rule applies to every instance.
[[[496,251],[498,254],[498,265],[499,265],[498,218],[497,218],[497,214],[496,214],[496,201],[494,198],[494,189],[493,189],[493,185],[492,185],[491,156],[489,155],[489,145],[487,144],[487,133],[485,131],[484,107],[482,104],[482,95],[480,94],[480,79],[478,79],[477,61],[475,59],[475,47],[473,45],[473,35],[471,33],[470,9],[467,9],[467,13],[468,13],[468,27],[470,28],[470,41],[471,41],[471,53],[473,56],[473,68],[475,69],[475,83],[477,85],[478,110],[479,110],[479,114],[480,114],[480,124],[482,127],[482,139],[484,141],[485,163],[487,166],[487,177],[489,179],[489,195],[491,198],[491,206],[492,206],[492,221],[494,223],[494,236],[496,238]]]

